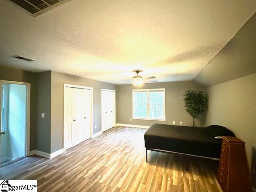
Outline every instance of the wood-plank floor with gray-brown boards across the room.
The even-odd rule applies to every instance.
[[[0,169],[1,179],[37,180],[38,192],[218,192],[218,161],[144,148],[142,128],[115,127],[48,159],[31,156]]]

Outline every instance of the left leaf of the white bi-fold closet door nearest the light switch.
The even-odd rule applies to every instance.
[[[64,149],[73,146],[73,88],[64,89]]]

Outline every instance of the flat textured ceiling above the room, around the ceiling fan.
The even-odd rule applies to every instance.
[[[114,84],[134,69],[192,80],[256,12],[255,0],[71,0],[34,18],[0,4],[0,65]]]

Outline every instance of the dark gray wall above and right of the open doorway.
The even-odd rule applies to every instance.
[[[0,79],[30,83],[30,150],[36,149],[37,74],[0,66]]]

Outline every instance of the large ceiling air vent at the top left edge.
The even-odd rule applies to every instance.
[[[69,0],[10,0],[32,16],[42,14],[67,1]]]

